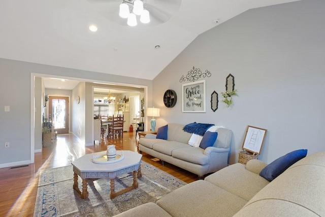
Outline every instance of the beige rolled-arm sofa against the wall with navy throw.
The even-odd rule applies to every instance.
[[[183,131],[184,125],[168,124],[168,140],[156,139],[156,135],[147,134],[139,139],[139,151],[188,170],[203,175],[218,171],[228,165],[228,155],[232,139],[232,131],[218,128],[217,140],[213,147],[205,150],[194,148],[188,144],[192,133]]]

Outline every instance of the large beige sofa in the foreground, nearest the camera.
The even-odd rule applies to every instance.
[[[259,176],[266,165],[233,164],[117,216],[325,216],[325,152],[303,158],[271,183]]]

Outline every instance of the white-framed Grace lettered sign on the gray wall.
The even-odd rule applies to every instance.
[[[205,112],[205,80],[182,85],[182,112]]]

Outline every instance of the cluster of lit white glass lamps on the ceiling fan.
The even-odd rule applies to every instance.
[[[128,5],[133,6],[133,13],[130,13]],[[149,23],[149,11],[143,8],[143,2],[141,0],[123,0],[123,3],[120,4],[120,17],[127,18],[127,25],[129,26],[136,26],[137,23],[137,16],[140,16],[140,22],[142,23]]]

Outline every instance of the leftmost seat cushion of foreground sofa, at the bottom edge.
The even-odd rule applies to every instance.
[[[137,206],[133,209],[129,209],[125,212],[120,214],[114,215],[116,217],[146,217],[146,216],[159,216],[159,217],[170,217],[171,215],[168,214],[164,209],[160,208],[155,203],[145,203],[140,206]]]

